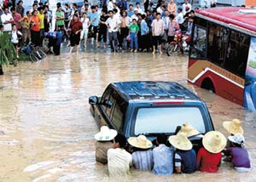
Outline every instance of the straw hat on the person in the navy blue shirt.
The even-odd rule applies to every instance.
[[[178,148],[179,150],[191,150],[192,143],[189,139],[186,137],[186,133],[179,132],[177,135],[173,135],[169,137],[169,142],[172,146],[175,148]]]

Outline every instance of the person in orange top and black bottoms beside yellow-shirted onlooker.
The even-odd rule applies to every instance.
[[[30,21],[31,42],[35,46],[40,46],[40,28],[39,28],[40,19],[37,16],[37,14],[38,14],[37,10],[34,10],[32,12],[32,17],[31,17],[31,21]]]

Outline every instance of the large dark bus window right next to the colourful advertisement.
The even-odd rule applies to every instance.
[[[249,35],[231,30],[224,67],[244,78],[249,47]]]

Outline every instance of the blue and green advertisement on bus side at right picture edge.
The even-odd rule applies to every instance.
[[[244,106],[256,110],[256,38],[251,37],[245,73]]]

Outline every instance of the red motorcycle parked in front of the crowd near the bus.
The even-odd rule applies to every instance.
[[[175,32],[173,42],[167,46],[167,55],[177,55],[180,51],[182,54],[189,52],[190,36],[182,34],[180,30]]]

